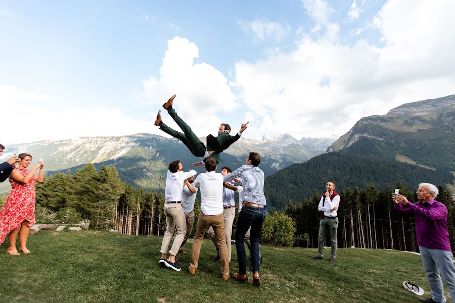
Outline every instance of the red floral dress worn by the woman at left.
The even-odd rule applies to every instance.
[[[26,168],[15,168],[22,176],[29,172]],[[0,210],[0,244],[6,236],[22,222],[28,221],[28,227],[35,224],[35,175],[27,184],[17,183],[10,177],[11,191]]]

